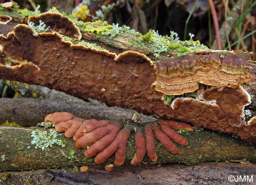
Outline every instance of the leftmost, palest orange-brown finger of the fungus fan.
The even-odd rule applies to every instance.
[[[57,113],[53,113],[53,114],[48,114],[45,117],[45,121],[51,121],[53,125],[56,125],[62,121],[68,121],[73,119],[75,116],[73,114],[70,113],[66,113],[66,112],[57,112]]]

